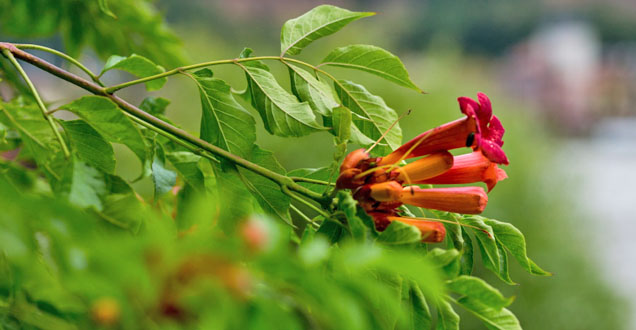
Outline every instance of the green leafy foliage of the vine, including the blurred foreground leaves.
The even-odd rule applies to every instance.
[[[135,14],[143,22],[139,10],[146,10],[118,1],[86,6],[103,15],[96,24]],[[317,7],[285,23],[283,55],[369,15]],[[55,31],[66,19],[42,29]],[[71,48],[80,49],[84,33],[91,32],[67,36]],[[113,52],[126,49],[116,45]],[[189,72],[211,62],[165,72],[140,55],[106,61],[101,74],[119,69],[140,78],[122,88],[145,83],[157,90],[172,73],[192,78],[201,99],[200,139],[172,124],[165,115],[170,101],[161,97],[137,108],[108,93],[115,89],[91,87],[97,95],[57,109],[80,118],[72,120],[49,112],[43,118],[46,109],[28,94],[0,103],[2,150],[19,153],[0,158],[0,324],[458,329],[457,306],[489,328],[518,329],[506,309],[512,298],[471,275],[473,244],[484,267],[506,283],[513,283],[508,253],[528,273],[549,275],[528,258],[523,235],[508,223],[441,212],[440,219],[450,221],[445,249],[429,250],[420,229],[401,222],[378,232],[352,192],[334,189],[333,179],[349,144],[369,147],[379,140],[378,155],[401,144],[399,125],[393,126],[397,113],[358,83],[297,59],[250,58],[251,52],[214,63],[240,67],[244,92],[210,69]],[[287,67],[290,90],[264,60]],[[402,62],[375,46],[338,48],[323,62],[419,91]],[[88,85],[62,69],[44,70]],[[332,165],[287,172],[258,146],[257,123],[243,101],[272,135],[329,130],[336,146]],[[59,124],[65,138],[56,139],[47,120]],[[116,175],[113,143],[139,158],[140,178],[152,179],[151,200]],[[67,144],[65,158],[60,151]]]

